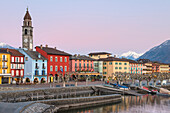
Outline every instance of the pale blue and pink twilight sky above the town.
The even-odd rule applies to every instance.
[[[22,46],[27,6],[34,46],[144,53],[170,39],[170,0],[0,0],[0,42]]]

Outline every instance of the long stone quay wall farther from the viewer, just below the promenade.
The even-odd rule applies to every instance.
[[[66,88],[41,88],[0,92],[0,102],[27,102],[35,100],[76,97],[95,92],[91,86]]]

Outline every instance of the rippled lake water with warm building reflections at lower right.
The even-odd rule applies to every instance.
[[[169,113],[170,97],[157,95],[124,96],[122,102],[63,113]]]

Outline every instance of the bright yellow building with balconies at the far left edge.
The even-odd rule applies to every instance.
[[[11,83],[11,55],[8,51],[0,49],[0,84]]]

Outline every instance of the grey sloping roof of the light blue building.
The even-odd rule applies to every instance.
[[[37,51],[24,50],[24,52],[27,53],[32,59],[35,59],[35,60],[47,60],[44,56],[42,56]],[[41,57],[39,58],[38,55],[41,55]]]

